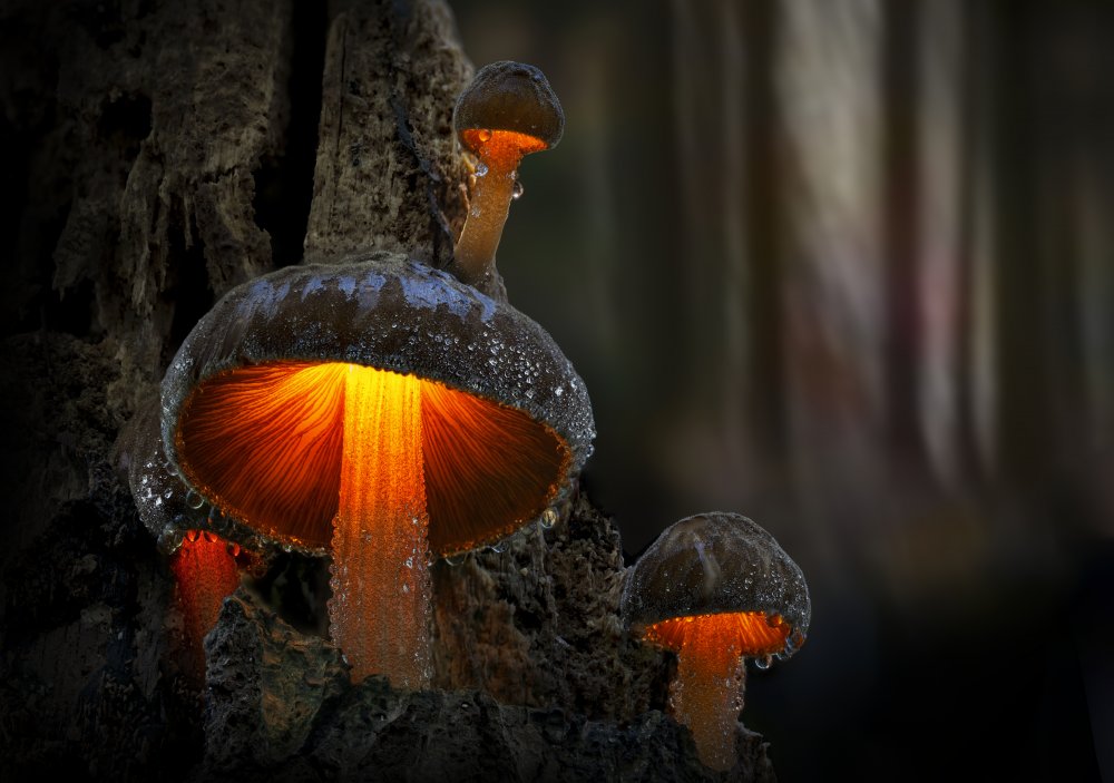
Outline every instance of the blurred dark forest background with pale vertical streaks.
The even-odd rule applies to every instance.
[[[450,4],[565,107],[499,268],[587,491],[809,580],[743,713],[780,780],[1114,780],[1114,3]]]

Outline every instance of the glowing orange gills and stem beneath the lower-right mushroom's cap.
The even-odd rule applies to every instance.
[[[744,656],[772,655],[785,646],[789,624],[761,611],[680,617],[656,623],[645,638],[677,654],[670,706],[688,726],[705,766],[735,765],[735,724],[743,708]]]

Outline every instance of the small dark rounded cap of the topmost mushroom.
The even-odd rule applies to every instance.
[[[553,148],[565,131],[565,114],[545,74],[500,60],[480,68],[457,98],[452,127],[462,143],[465,130],[510,130]]]

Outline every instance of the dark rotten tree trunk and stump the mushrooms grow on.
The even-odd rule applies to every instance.
[[[584,497],[504,552],[437,565],[441,691],[351,686],[321,633],[325,566],[294,556],[225,603],[206,687],[184,676],[121,428],[213,302],[301,260],[303,237],[307,262],[444,266],[462,222],[450,118],[472,67],[449,9],[310,6],[0,14],[0,146],[22,188],[3,217],[0,777],[715,777],[663,714],[670,660],[618,619],[618,532]],[[773,780],[739,733],[730,777]]]

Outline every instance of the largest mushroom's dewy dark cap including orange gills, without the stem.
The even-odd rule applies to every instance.
[[[282,444],[253,442],[260,440],[253,428],[281,430],[303,411],[335,421],[329,405],[342,402],[276,404],[258,425],[221,407],[242,393],[241,380],[266,388],[270,373],[281,380],[332,363],[412,374],[441,398],[467,393],[468,420],[422,424],[429,545],[437,555],[492,542],[536,519],[569,491],[592,453],[584,382],[545,330],[509,304],[398,254],[290,266],[229,291],[163,379],[168,466],[231,519],[233,540],[328,550],[339,478],[326,473],[339,473],[343,438],[306,442],[305,431],[290,428]],[[241,442],[214,446],[226,432]],[[272,470],[276,463],[285,472]]]

